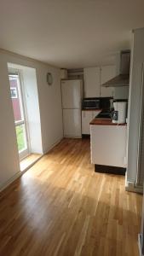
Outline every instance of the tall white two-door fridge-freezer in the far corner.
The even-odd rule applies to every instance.
[[[82,137],[82,80],[61,81],[64,137]]]

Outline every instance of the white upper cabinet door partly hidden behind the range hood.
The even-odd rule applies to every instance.
[[[106,83],[108,80],[116,76],[116,67],[115,66],[105,66],[101,67],[101,84]],[[112,87],[103,87],[101,86],[101,97],[111,97],[113,95]]]

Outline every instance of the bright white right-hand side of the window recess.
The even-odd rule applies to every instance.
[[[30,151],[32,153],[42,154],[43,146],[37,94],[36,70],[34,68],[26,67],[22,69],[21,76],[23,79],[23,91],[26,99],[26,115],[30,139]]]

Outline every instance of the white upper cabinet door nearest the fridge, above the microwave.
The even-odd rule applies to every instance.
[[[84,68],[84,97],[100,96],[100,67]]]

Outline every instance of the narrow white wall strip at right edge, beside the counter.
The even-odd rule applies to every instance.
[[[138,141],[141,104],[141,69],[144,62],[144,28],[133,33],[132,55],[130,67],[130,96],[128,113],[128,168],[127,182],[135,183],[137,176]]]

